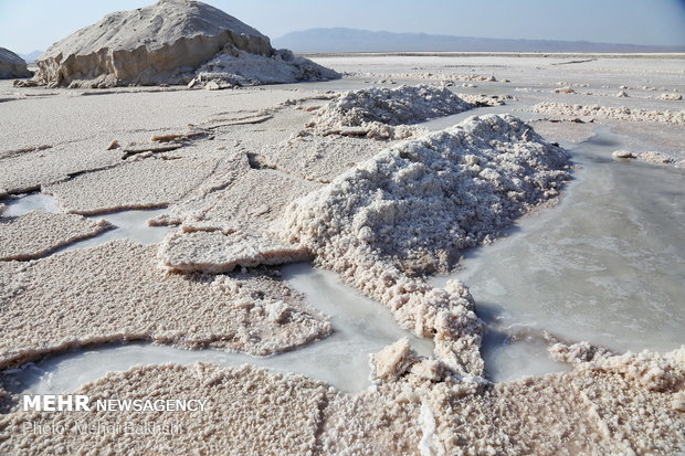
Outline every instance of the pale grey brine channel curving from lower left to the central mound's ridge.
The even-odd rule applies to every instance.
[[[250,363],[326,381],[341,391],[357,392],[370,384],[369,354],[407,337],[420,354],[429,356],[433,342],[402,330],[390,311],[342,284],[335,273],[309,264],[283,267],[283,276],[306,295],[307,303],[330,316],[334,333],[304,348],[270,358],[219,350],[182,350],[149,343],[112,344],[74,350],[49,357],[8,377],[19,390],[46,394],[70,392],[107,372],[124,371],[135,364],[215,362],[220,365]]]

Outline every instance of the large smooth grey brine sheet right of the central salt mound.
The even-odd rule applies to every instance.
[[[685,343],[685,170],[612,162],[621,148],[603,131],[579,146],[561,204],[471,252],[455,274],[491,328],[491,379],[559,370],[544,330],[618,351]]]

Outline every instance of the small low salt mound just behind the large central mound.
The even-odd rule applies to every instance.
[[[398,88],[361,88],[346,92],[322,108],[317,113],[316,125],[333,132],[345,132],[346,128],[360,128],[361,132],[365,129],[378,129],[379,124],[418,124],[473,107],[445,87],[422,84]]]

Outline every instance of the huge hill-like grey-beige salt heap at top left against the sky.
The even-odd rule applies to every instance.
[[[108,14],[53,44],[36,61],[33,83],[70,87],[180,84],[193,79],[205,62],[213,57],[214,65],[228,62],[229,55],[240,61],[226,70],[235,72],[231,82],[236,85],[243,85],[243,79],[264,84],[339,77],[305,59],[275,51],[267,36],[217,8],[190,0],[160,0],[151,7]],[[264,75],[251,68],[252,63],[262,65]],[[243,75],[244,71],[252,73]],[[211,78],[207,72],[204,66],[203,81]]]

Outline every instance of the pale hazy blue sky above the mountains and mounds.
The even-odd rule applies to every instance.
[[[685,0],[207,0],[271,38],[348,26],[482,38],[685,45]],[[152,0],[0,0],[0,46],[44,51]]]

